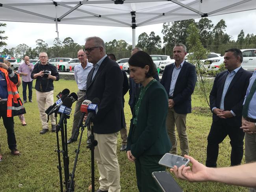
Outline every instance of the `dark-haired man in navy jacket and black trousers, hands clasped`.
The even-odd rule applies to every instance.
[[[243,100],[252,72],[241,67],[243,54],[239,49],[225,51],[226,71],[217,74],[210,93],[210,107],[213,113],[211,130],[208,135],[206,166],[217,167],[219,143],[228,135],[230,138],[231,166],[241,164],[243,138],[240,129]]]

